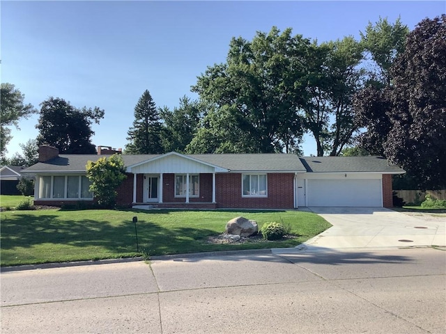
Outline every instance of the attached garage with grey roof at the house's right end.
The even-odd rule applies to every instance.
[[[383,157],[300,157],[298,207],[392,207],[392,175],[405,173]]]

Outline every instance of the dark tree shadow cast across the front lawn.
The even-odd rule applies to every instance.
[[[139,250],[151,250],[161,255],[171,248],[193,251],[196,240],[215,234],[213,230],[197,228],[163,228],[149,221],[137,222]],[[112,225],[108,221],[72,221],[52,215],[17,214],[1,222],[1,248],[31,248],[39,244],[86,247],[98,246],[113,253],[137,253],[134,223],[125,221]]]

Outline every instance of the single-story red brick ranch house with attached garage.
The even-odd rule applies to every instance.
[[[100,150],[98,152],[101,152]],[[392,174],[383,157],[298,157],[294,154],[140,154],[121,156],[127,179],[118,204],[141,207],[293,209],[392,207]],[[95,154],[39,148],[35,203],[93,200],[86,175]]]

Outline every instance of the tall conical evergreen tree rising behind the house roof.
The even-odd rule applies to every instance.
[[[127,132],[126,154],[162,153],[160,113],[148,90],[139,97],[134,107],[133,126]]]

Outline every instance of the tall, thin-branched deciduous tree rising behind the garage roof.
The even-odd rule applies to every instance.
[[[339,155],[357,131],[353,96],[362,85],[362,46],[352,37],[312,44],[307,61],[305,128],[316,141],[319,157]]]

